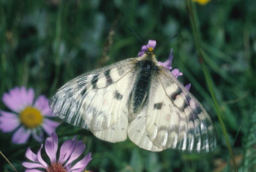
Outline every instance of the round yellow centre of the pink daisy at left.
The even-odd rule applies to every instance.
[[[44,117],[38,109],[34,107],[26,107],[19,114],[19,120],[25,127],[32,129],[41,126]]]

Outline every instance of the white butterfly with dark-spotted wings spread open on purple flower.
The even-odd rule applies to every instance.
[[[212,151],[217,135],[209,114],[170,68],[158,63],[155,44],[149,44],[138,58],[66,83],[49,101],[53,113],[104,141],[128,136],[149,151]]]

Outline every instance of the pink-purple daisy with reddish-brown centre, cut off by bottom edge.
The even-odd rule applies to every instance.
[[[75,165],[72,166],[73,161],[80,157],[80,155],[85,150],[85,144],[82,144],[82,141],[76,141],[76,136],[72,140],[67,140],[61,145],[58,160],[57,134],[54,132],[51,134],[51,137],[46,139],[44,149],[50,158],[50,165],[48,165],[41,157],[42,147],[43,144],[41,144],[37,154],[32,152],[30,147],[28,147],[25,155],[29,160],[32,161],[32,163],[22,163],[22,166],[27,168],[25,172],[82,172],[89,161],[92,160],[92,153],[90,152],[82,160],[78,161]]]

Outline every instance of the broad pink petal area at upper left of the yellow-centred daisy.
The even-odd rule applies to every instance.
[[[26,90],[24,86],[10,89],[3,94],[3,103],[12,111],[21,112],[26,106],[30,106],[34,100],[34,90]]]

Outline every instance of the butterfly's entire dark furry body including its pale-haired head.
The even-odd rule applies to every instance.
[[[130,93],[128,107],[131,115],[129,120],[133,120],[148,101],[152,76],[158,70],[155,54],[153,52],[145,52],[139,58],[136,68],[138,68],[139,72]]]

